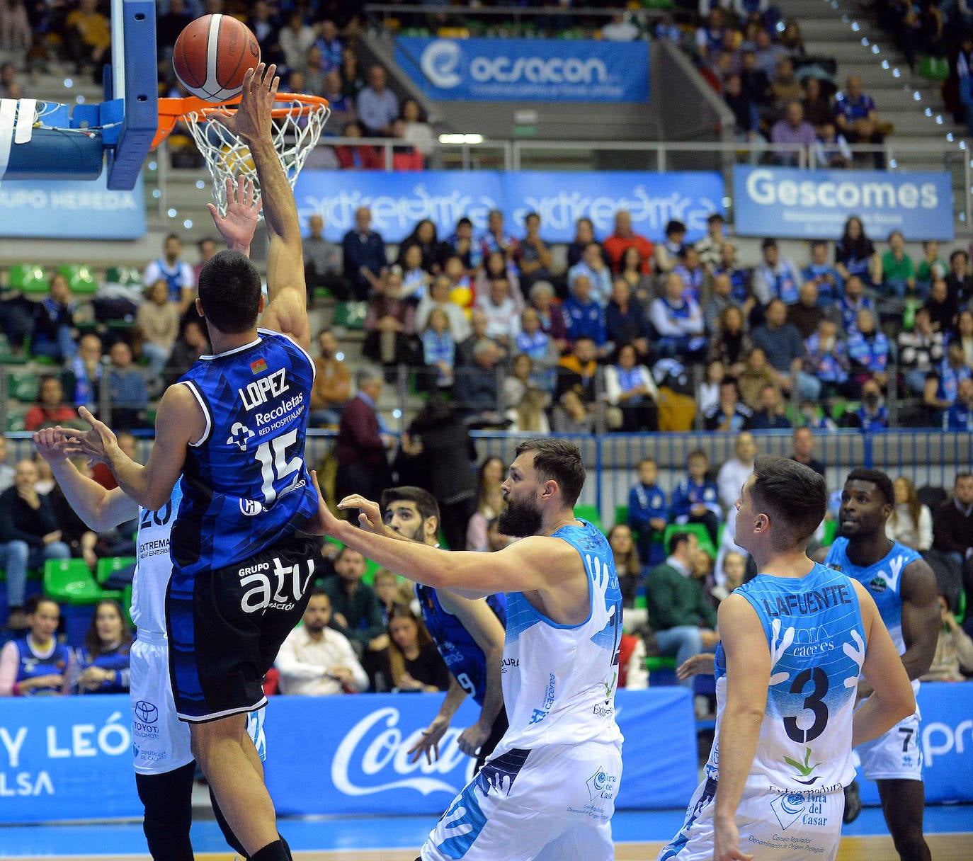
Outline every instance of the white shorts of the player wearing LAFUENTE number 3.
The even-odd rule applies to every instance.
[[[716,781],[703,780],[657,861],[712,861],[715,810]],[[771,861],[834,861],[844,811],[844,792],[745,789],[736,817],[740,851]]]

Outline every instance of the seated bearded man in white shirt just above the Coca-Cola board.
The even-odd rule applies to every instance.
[[[280,693],[326,697],[368,688],[368,675],[348,638],[330,628],[331,598],[323,589],[310,593],[302,625],[280,646],[274,666],[280,672]]]

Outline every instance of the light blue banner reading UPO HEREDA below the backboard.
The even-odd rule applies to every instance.
[[[44,239],[138,239],[145,235],[145,191],[108,190],[108,171],[90,182],[0,182],[0,236]],[[200,202],[199,206],[202,207]],[[207,216],[208,217],[208,216]]]

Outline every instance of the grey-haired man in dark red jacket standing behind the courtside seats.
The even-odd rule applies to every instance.
[[[342,499],[360,493],[378,499],[391,484],[385,449],[391,447],[392,438],[384,433],[377,412],[385,381],[380,368],[363,365],[355,382],[358,391],[344,406],[338,424],[336,495]]]

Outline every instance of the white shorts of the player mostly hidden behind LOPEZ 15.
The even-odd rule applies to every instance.
[[[164,774],[193,761],[189,724],[176,717],[168,652],[168,640],[163,636],[140,632],[128,656],[131,749],[139,774]],[[260,708],[247,716],[247,733],[261,760],[267,753],[264,712]]]

